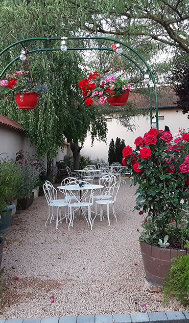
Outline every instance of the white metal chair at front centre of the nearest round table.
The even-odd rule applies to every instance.
[[[68,230],[70,226],[74,226],[75,212],[77,210],[81,211],[92,230],[91,206],[93,205],[93,190],[90,183],[84,180],[81,183],[82,187],[73,181],[66,184],[65,189],[63,189],[69,208]],[[88,218],[86,213],[88,213]]]

